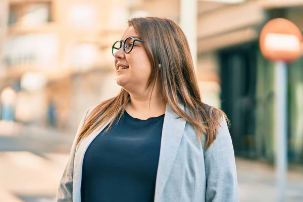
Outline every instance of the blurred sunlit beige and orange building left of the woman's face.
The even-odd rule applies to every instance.
[[[114,95],[104,92],[117,91],[110,47],[126,27],[123,2],[8,1],[0,87],[18,92],[15,120],[74,128],[87,107]]]

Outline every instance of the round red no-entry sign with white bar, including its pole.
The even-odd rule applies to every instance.
[[[278,200],[286,201],[287,185],[287,65],[302,56],[302,34],[291,21],[276,18],[262,29],[259,39],[264,58],[276,63],[275,134]]]

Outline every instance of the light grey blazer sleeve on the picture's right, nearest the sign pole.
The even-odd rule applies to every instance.
[[[234,150],[225,118],[215,141],[205,150],[206,202],[236,202],[238,197]]]

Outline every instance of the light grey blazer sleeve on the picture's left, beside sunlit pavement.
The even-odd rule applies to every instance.
[[[73,201],[73,175],[74,175],[74,158],[76,153],[76,140],[80,133],[81,128],[84,125],[85,119],[89,114],[90,109],[86,111],[82,117],[80,124],[78,126],[75,139],[72,144],[70,157],[67,162],[66,168],[64,170],[63,176],[61,178],[59,189],[57,191],[56,201],[57,202],[72,202]]]

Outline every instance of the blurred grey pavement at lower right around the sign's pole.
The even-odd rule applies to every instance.
[[[258,161],[236,159],[241,202],[276,202],[276,171],[273,166]],[[287,202],[303,201],[303,166],[288,170]]]

